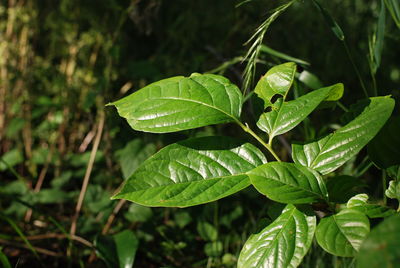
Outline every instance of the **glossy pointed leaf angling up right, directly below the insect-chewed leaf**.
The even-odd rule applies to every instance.
[[[296,127],[328,97],[331,100],[337,98],[337,95],[340,98],[342,94],[343,84],[336,84],[314,90],[289,102],[284,101],[279,106],[274,104],[270,112],[260,116],[257,126],[272,139]]]

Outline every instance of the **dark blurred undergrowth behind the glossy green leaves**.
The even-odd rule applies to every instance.
[[[396,3],[320,1],[341,26],[348,53],[311,0],[295,2],[267,31],[268,47],[261,50],[255,77],[285,61],[279,51],[305,61],[301,69],[317,85],[343,82],[344,105],[364,96],[360,79],[370,95],[376,88],[378,95],[398,100],[399,20],[386,10],[384,33],[377,34],[384,2]],[[234,267],[248,235],[280,211],[254,190],[188,209],[145,208],[110,197],[163,146],[192,136],[235,135],[236,129],[138,133],[105,104],[159,79],[192,72],[221,73],[242,85],[246,63],[241,60],[248,49],[243,44],[284,3],[1,0],[2,264],[7,267],[8,258],[11,267],[117,267],[124,262],[115,257],[124,254],[121,239],[132,237],[126,245],[133,252],[129,256],[137,250],[135,267]],[[377,38],[384,42],[374,50]],[[328,112],[316,118],[316,125],[326,126],[338,116]],[[297,138],[311,139],[316,129],[306,124]],[[284,145],[277,146],[287,156]],[[355,161],[342,175],[359,174]],[[84,177],[90,181],[76,213]],[[304,265],[316,267],[316,262],[347,265],[317,249]]]

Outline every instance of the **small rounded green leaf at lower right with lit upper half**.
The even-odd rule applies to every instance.
[[[353,257],[369,233],[369,221],[364,213],[344,209],[323,218],[315,233],[318,244],[327,252],[342,257]]]

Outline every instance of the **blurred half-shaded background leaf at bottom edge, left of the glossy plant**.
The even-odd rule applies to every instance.
[[[97,255],[102,258],[107,267],[133,267],[139,240],[130,230],[125,230],[113,236],[98,236],[94,241]]]

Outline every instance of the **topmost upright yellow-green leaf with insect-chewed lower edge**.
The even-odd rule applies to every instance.
[[[264,101],[264,108],[272,105],[272,97],[276,94],[286,96],[292,86],[296,64],[287,62],[272,67],[258,81],[254,92]]]

